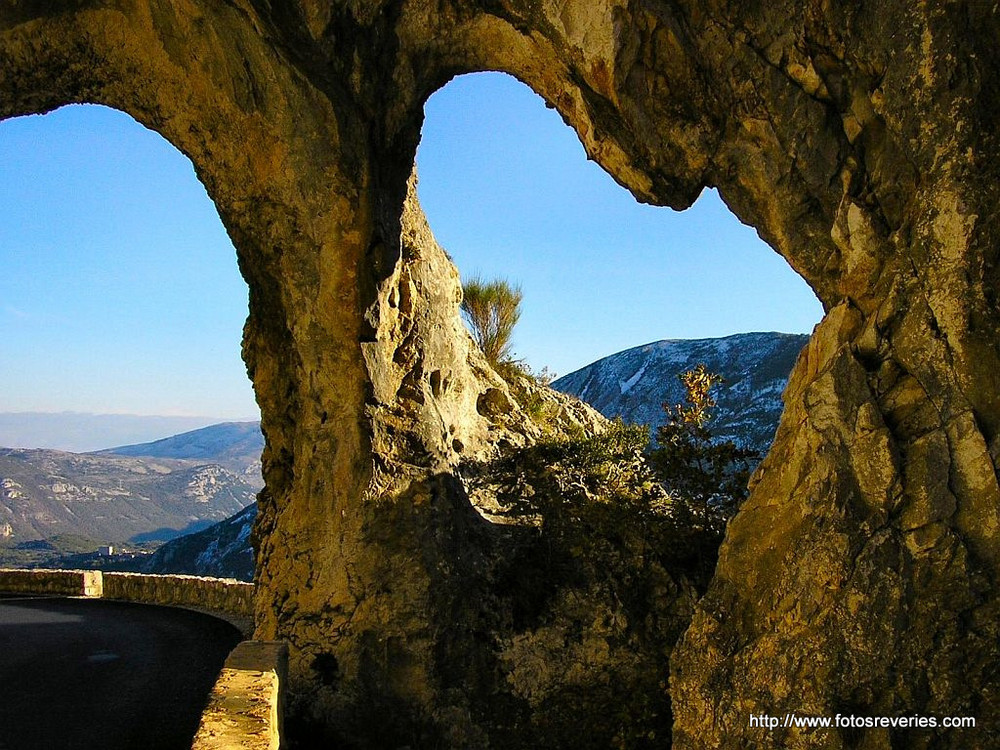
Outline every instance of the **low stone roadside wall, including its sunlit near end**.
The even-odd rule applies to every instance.
[[[0,568],[0,592],[182,607],[226,620],[244,636],[253,631],[253,584],[228,578]],[[284,643],[240,643],[212,689],[193,750],[278,750],[287,672]]]

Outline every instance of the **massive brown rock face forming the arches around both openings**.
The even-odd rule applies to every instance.
[[[219,208],[267,438],[257,630],[290,641],[318,720],[378,696],[485,742],[459,694],[492,667],[445,665],[483,652],[448,626],[495,530],[455,467],[522,420],[405,196],[423,102],[498,69],[638,198],[717,186],[827,310],[672,658],[677,746],[991,747],[997,39],[991,2],[22,2],[0,11],[0,116],[122,109]],[[978,728],[749,726],[790,711]]]

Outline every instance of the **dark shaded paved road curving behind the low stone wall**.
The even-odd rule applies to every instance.
[[[239,641],[186,610],[0,598],[0,750],[187,750]]]

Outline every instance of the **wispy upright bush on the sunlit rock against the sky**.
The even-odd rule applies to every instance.
[[[524,297],[521,288],[505,279],[475,277],[462,285],[462,297],[462,312],[486,360],[494,367],[512,362],[511,337]]]

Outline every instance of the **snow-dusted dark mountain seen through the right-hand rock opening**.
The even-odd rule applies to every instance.
[[[648,424],[664,421],[663,403],[679,404],[678,375],[704,364],[725,382],[709,425],[720,440],[764,453],[781,417],[781,394],[809,337],[789,333],[741,333],[718,339],[667,340],[612,354],[552,383],[606,417]]]

